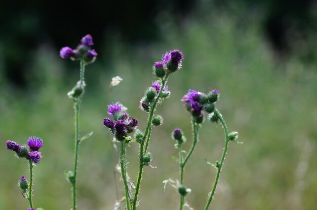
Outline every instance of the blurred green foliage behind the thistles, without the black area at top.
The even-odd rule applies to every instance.
[[[189,88],[220,90],[217,108],[244,142],[230,143],[214,209],[316,209],[317,60],[307,64],[300,59],[307,47],[317,49],[312,47],[315,42],[309,37],[295,40],[299,50],[281,62],[265,41],[261,15],[249,11],[242,24],[231,13],[210,15],[210,10],[199,8],[195,14],[200,16],[189,16],[181,24],[162,15],[157,20],[159,32],[165,34],[162,40],[131,46],[113,38],[111,45],[104,46],[107,53],[99,50],[97,61],[87,67],[81,133],[94,134],[81,146],[78,209],[112,209],[115,201],[109,134],[102,126],[111,78],[123,78],[112,88],[112,100],[128,107],[143,129],[146,114],[138,103],[154,80],[151,66],[166,49],[174,48],[183,51],[185,60],[182,70],[169,80],[171,97],[157,111],[164,124],[153,129],[149,146],[157,169],[145,168],[140,209],[154,209],[152,203],[155,209],[178,206],[178,194],[173,188],[164,193],[162,181],[178,178],[177,163],[171,158],[177,155],[171,139],[175,127],[183,129],[185,147],[190,146],[190,116],[180,101]],[[23,91],[11,86],[0,71],[0,206],[4,209],[27,206],[16,183],[22,175],[28,177],[26,163],[6,150],[5,140],[23,143],[31,135],[44,139],[44,158],[34,169],[35,206],[67,209],[70,204],[64,170],[72,168],[74,134],[72,101],[66,93],[78,80],[78,67],[60,59],[58,51],[43,44],[34,52],[28,65],[30,85]],[[0,59],[1,54],[0,50]],[[192,189],[188,202],[195,209],[203,208],[215,175],[205,158],[219,160],[222,147],[222,129],[206,122],[184,177]],[[132,144],[127,156],[133,180],[137,153],[138,145]]]

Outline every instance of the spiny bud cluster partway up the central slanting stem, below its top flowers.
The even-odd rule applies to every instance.
[[[150,111],[150,107],[152,103],[155,101],[155,98],[159,96],[161,86],[162,86],[162,82],[159,80],[156,80],[155,82],[153,82],[153,84],[149,88],[146,89],[144,96],[141,98],[141,101],[140,101],[141,110],[143,110],[144,112]],[[165,85],[162,89],[160,97],[164,99],[164,98],[170,97],[170,95],[171,95],[171,92],[169,91],[169,87]],[[161,98],[158,101],[158,103],[162,102]]]

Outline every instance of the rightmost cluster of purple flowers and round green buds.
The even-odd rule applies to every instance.
[[[214,114],[214,103],[219,99],[218,90],[214,89],[208,94],[189,90],[183,96],[182,101],[185,103],[185,108],[196,119],[196,123],[202,123],[204,120],[204,112],[208,114],[208,119],[211,122],[217,122],[218,117]]]

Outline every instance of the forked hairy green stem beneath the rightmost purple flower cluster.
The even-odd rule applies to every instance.
[[[194,118],[192,118],[192,120],[191,120],[191,125],[192,125],[192,130],[193,130],[193,141],[192,141],[191,148],[190,148],[188,154],[186,155],[184,161],[183,161],[183,155],[182,155],[182,146],[181,145],[179,146],[179,160],[180,160],[179,161],[179,168],[180,168],[180,184],[181,185],[183,185],[184,168],[185,168],[186,163],[187,163],[188,159],[190,158],[192,152],[194,151],[196,143],[198,141],[198,131],[199,131],[200,125],[198,125],[195,122]],[[184,198],[185,198],[185,196],[180,194],[180,208],[179,208],[180,210],[183,209]]]

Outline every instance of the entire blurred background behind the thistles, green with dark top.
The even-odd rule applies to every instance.
[[[112,25],[104,21],[107,12],[121,8],[94,11],[89,5],[86,11],[69,12],[63,21],[71,9],[62,5],[64,13],[55,14],[61,17],[51,20],[53,25],[45,22],[52,14],[36,13],[31,6],[2,18],[0,209],[27,209],[16,186],[22,175],[29,177],[27,162],[15,159],[5,141],[23,144],[33,135],[44,139],[44,158],[35,168],[35,206],[69,209],[70,184],[64,171],[72,169],[74,132],[72,101],[66,93],[78,80],[79,64],[62,60],[59,49],[75,47],[87,33],[95,38],[98,58],[86,71],[81,134],[94,134],[80,147],[78,209],[113,209],[116,199],[109,133],[102,126],[111,102],[111,77],[123,78],[112,89],[112,101],[128,107],[144,129],[147,114],[139,110],[139,100],[154,80],[153,63],[174,48],[183,51],[185,60],[169,79],[171,97],[156,112],[164,118],[164,124],[153,129],[149,146],[157,169],[145,168],[139,208],[178,208],[178,193],[169,186],[164,193],[162,182],[178,179],[178,165],[171,158],[177,156],[172,130],[184,130],[185,149],[191,144],[190,115],[180,99],[189,88],[217,88],[221,98],[216,107],[244,144],[230,143],[210,209],[317,209],[317,11],[315,1],[295,2],[301,7],[285,1],[206,0],[154,1],[153,7],[140,2],[129,9],[132,3],[127,3],[121,14],[108,20]],[[2,15],[10,13],[11,3],[6,4],[9,11],[2,7]],[[104,19],[96,14],[104,14]],[[184,175],[192,189],[187,201],[194,209],[203,209],[216,172],[205,158],[219,160],[222,148],[221,126],[205,122]],[[137,144],[128,148],[133,181],[138,149]],[[119,186],[123,196],[122,182]]]

